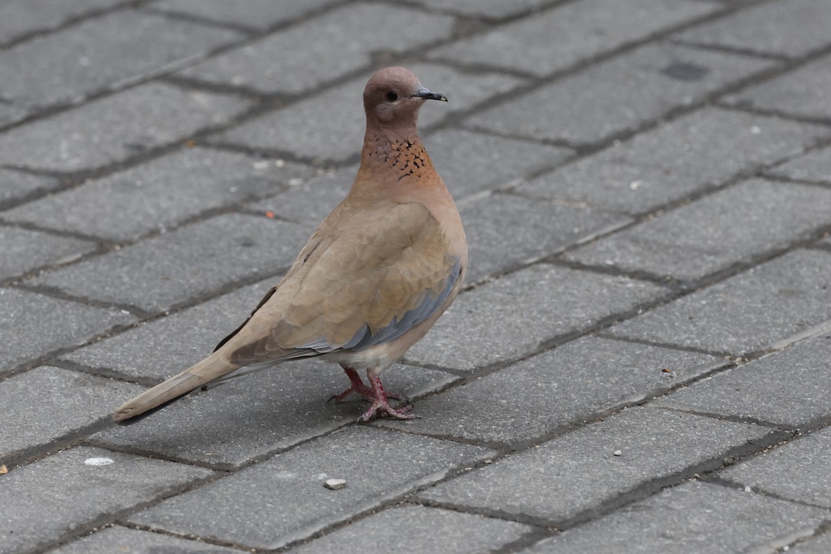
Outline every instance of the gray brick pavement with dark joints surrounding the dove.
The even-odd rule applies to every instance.
[[[828,0],[2,2],[0,554],[829,552],[829,28]],[[307,360],[111,424],[278,281],[390,64],[450,97],[422,134],[470,242],[387,374],[423,419],[356,424]]]

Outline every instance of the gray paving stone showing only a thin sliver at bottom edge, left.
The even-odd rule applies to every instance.
[[[126,527],[108,527],[80,541],[50,551],[52,554],[239,554],[238,550],[217,547],[207,542],[138,531]]]

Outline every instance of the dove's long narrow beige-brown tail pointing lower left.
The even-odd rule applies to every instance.
[[[241,367],[230,363],[228,360],[223,360],[223,357],[218,352],[214,352],[214,354],[209,355],[190,369],[170,377],[170,379],[155,385],[152,389],[145,390],[133,400],[121,404],[112,414],[112,419],[124,421],[136,415],[144,414],[150,409],[186,395],[191,390],[198,389],[200,386],[219,379],[223,375],[228,375]]]

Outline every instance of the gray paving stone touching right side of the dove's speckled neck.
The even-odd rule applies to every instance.
[[[528,140],[503,139],[458,129],[427,135],[424,144],[435,169],[457,200],[504,188],[572,154],[571,150]]]

